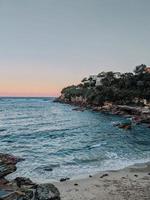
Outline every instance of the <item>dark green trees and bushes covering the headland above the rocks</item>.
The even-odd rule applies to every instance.
[[[103,105],[105,101],[116,104],[139,104],[143,99],[150,101],[150,71],[141,64],[135,67],[133,73],[101,72],[96,80],[84,78],[79,85],[72,85],[62,90],[62,95],[68,101],[72,97],[83,97],[88,104]]]

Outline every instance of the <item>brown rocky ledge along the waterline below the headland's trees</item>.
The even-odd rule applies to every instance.
[[[73,108],[75,111],[84,111],[90,109],[95,112],[107,113],[112,115],[124,116],[126,118],[132,118],[136,124],[145,123],[150,128],[150,108],[140,106],[128,106],[128,105],[116,105],[106,102],[104,106],[87,104],[84,100],[80,101],[63,98],[62,96],[56,98],[54,102],[65,103],[76,106]]]

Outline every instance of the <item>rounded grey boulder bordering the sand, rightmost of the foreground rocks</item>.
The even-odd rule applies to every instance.
[[[60,200],[60,193],[53,184],[41,184],[35,191],[35,200]]]

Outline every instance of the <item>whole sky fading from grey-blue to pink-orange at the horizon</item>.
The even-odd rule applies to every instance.
[[[0,96],[58,96],[150,65],[150,0],[0,0]]]

